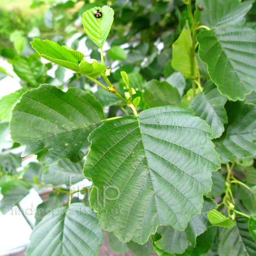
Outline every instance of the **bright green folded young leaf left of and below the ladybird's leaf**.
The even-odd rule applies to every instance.
[[[66,46],[60,46],[55,42],[35,38],[31,44],[43,58],[84,76],[95,78],[106,70],[106,67],[95,60],[92,63],[84,61],[84,55],[81,52]]]

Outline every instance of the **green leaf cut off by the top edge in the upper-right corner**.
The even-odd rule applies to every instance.
[[[201,25],[217,29],[221,25],[241,25],[244,16],[251,9],[254,1],[240,0],[197,0],[196,4],[202,6]]]

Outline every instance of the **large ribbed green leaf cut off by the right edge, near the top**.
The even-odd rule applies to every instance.
[[[202,31],[197,39],[199,58],[222,94],[236,101],[256,90],[256,35],[252,29],[221,26]]]

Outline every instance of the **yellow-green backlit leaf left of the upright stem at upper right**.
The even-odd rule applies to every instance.
[[[179,38],[172,44],[172,67],[186,78],[198,75],[192,74],[191,58],[192,38],[189,30],[184,29]]]

